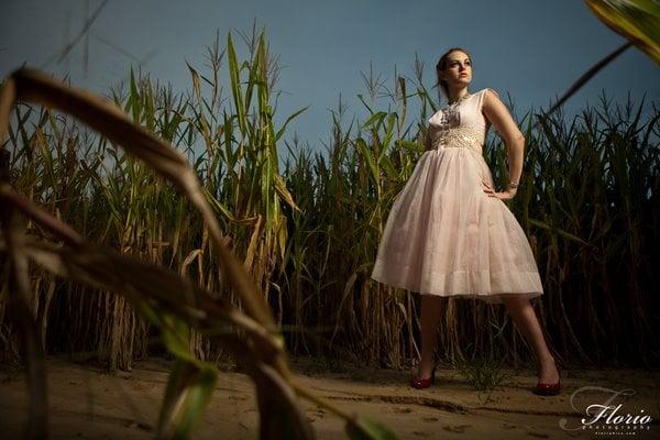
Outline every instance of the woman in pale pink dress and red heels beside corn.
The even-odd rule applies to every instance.
[[[531,248],[503,200],[515,197],[525,138],[497,92],[468,90],[472,61],[450,48],[436,66],[448,106],[429,118],[426,151],[387,218],[371,277],[421,294],[421,362],[410,386],[435,382],[436,328],[442,297],[504,304],[532,345],[536,394],[560,392],[559,371],[530,298],[543,294]],[[483,143],[491,124],[506,142],[508,186],[495,191]]]

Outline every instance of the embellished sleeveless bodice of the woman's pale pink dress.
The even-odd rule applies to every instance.
[[[472,94],[453,108],[446,106],[428,119],[433,150],[464,147],[482,154],[488,130],[482,114],[486,90]]]

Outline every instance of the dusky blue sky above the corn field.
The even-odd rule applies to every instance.
[[[91,13],[101,1],[88,4]],[[84,0],[4,0],[2,76],[23,62],[42,67],[78,33],[85,6]],[[361,73],[369,75],[370,66],[392,89],[395,68],[399,75],[414,76],[417,54],[430,87],[438,57],[451,46],[464,46],[474,62],[470,90],[494,88],[505,102],[510,94],[516,113],[521,114],[530,108],[547,108],[625,42],[578,0],[110,0],[91,26],[87,72],[84,42],[65,62],[52,62],[43,69],[58,77],[68,73],[72,84],[107,94],[128,78],[131,64],[136,67],[131,56],[117,48],[121,47],[138,58],[147,57],[143,70],[183,90],[190,87],[186,61],[204,72],[205,46],[212,44],[218,31],[222,47],[227,33],[233,31],[244,55],[237,31],[250,33],[255,20],[257,29],[265,26],[271,51],[284,67],[276,85],[283,90],[276,122],[309,106],[289,124],[285,139],[296,132],[319,151],[331,140],[329,109],[337,109],[340,94],[348,105],[342,121],[348,125],[353,116],[365,120],[356,94],[366,94]],[[607,98],[622,102],[628,92],[637,103],[645,92],[647,102],[657,101],[659,77],[658,66],[646,54],[629,48],[573,97],[564,112],[570,116],[586,103],[598,102],[603,90]],[[228,96],[227,77],[223,85]],[[389,105],[384,98],[377,102],[382,109]]]

